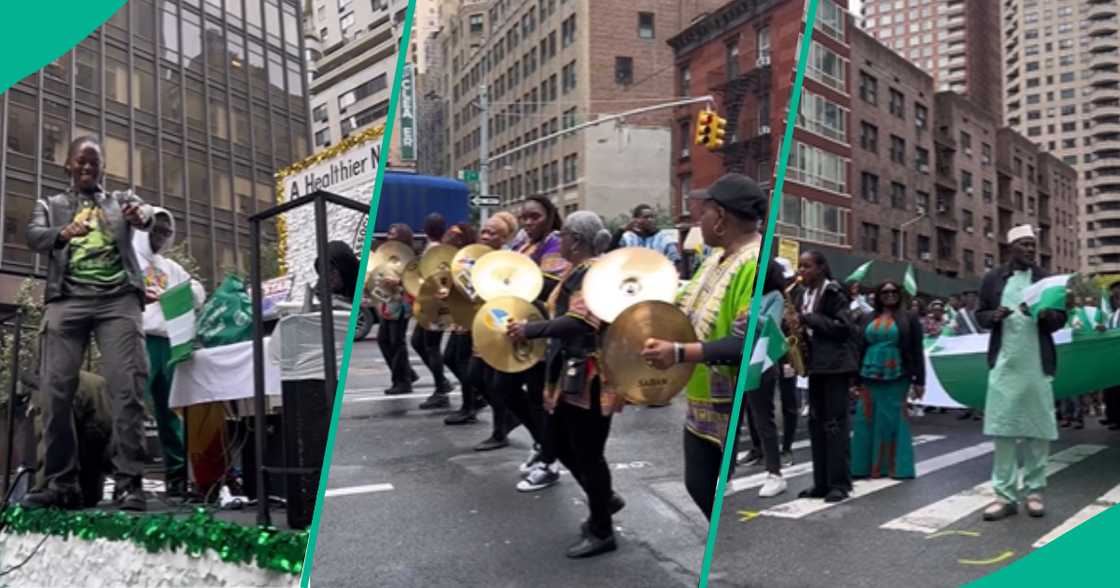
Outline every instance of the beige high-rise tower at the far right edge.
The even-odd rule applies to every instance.
[[[1080,267],[1120,272],[1120,0],[1006,0],[1008,124],[1080,172]]]

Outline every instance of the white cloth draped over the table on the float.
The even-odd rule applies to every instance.
[[[268,353],[264,338],[264,392],[280,395],[280,366]],[[171,382],[171,408],[204,402],[226,402],[253,398],[253,342],[246,340],[195,349],[190,360],[175,367]],[[279,399],[269,399],[277,404]]]

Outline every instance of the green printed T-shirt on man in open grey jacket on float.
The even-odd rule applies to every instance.
[[[66,280],[78,288],[105,290],[125,283],[129,276],[105,211],[85,195],[80,198],[74,222],[85,224],[90,232],[69,240]]]

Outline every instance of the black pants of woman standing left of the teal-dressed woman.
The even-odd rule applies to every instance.
[[[847,374],[809,376],[809,440],[813,454],[813,491],[851,492]]]

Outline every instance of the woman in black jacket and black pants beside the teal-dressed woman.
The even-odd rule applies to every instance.
[[[802,498],[840,502],[851,492],[849,389],[858,370],[855,326],[843,288],[832,279],[824,255],[801,255],[804,289],[794,299],[801,334],[809,344],[809,439],[813,486]]]

